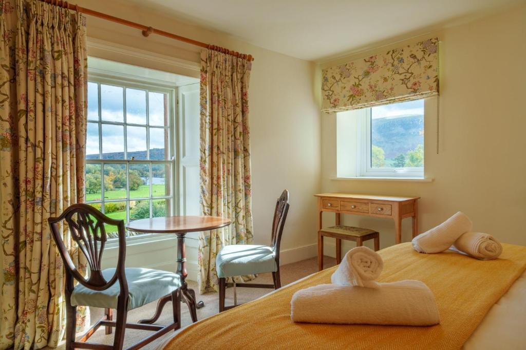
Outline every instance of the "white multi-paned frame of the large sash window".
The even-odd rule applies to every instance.
[[[98,123],[99,126],[99,159],[87,159],[86,164],[102,164],[101,172],[102,172],[102,181],[103,184],[101,186],[101,200],[92,200],[92,201],[86,201],[87,204],[101,204],[101,211],[104,213],[104,203],[111,203],[111,202],[126,202],[126,222],[129,221],[129,202],[130,201],[136,201],[136,200],[148,200],[150,201],[150,216],[152,213],[152,205],[153,200],[158,199],[169,199],[170,200],[170,215],[177,215],[177,210],[179,207],[179,188],[177,186],[178,184],[178,173],[179,173],[179,166],[178,166],[178,157],[176,156],[177,152],[177,87],[170,87],[168,84],[165,86],[163,84],[159,84],[158,82],[149,82],[149,81],[138,81],[134,79],[126,79],[123,78],[120,75],[115,76],[109,76],[107,74],[99,75],[97,73],[89,72],[88,74],[88,82],[96,82],[99,84],[98,89],[98,115],[99,119],[98,121],[94,120],[88,120],[88,123]],[[101,118],[101,100],[100,100],[100,84],[105,85],[112,85],[112,86],[119,86],[123,87],[123,113],[124,113],[124,119],[123,122],[109,122],[109,121],[103,121]],[[146,147],[147,147],[147,154],[149,154],[149,108],[148,104],[146,104],[146,115],[147,115],[147,123],[146,124],[134,124],[134,123],[126,123],[126,88],[132,88],[132,89],[139,89],[139,90],[146,90],[146,99],[148,101],[148,91],[153,92],[160,92],[160,93],[166,93],[168,94],[168,149],[169,149],[169,159],[168,160],[128,160],[126,159],[127,156],[127,137],[126,137],[126,128],[124,128],[124,158],[123,160],[103,160],[102,159],[102,124],[108,124],[108,125],[129,125],[129,126],[141,126],[146,127]],[[159,128],[160,129],[160,128]],[[104,164],[126,164],[126,194],[127,198],[124,199],[110,199],[110,200],[104,200]],[[171,178],[167,179],[167,183],[170,185],[170,194],[168,196],[161,196],[161,197],[151,197],[151,186],[150,186],[150,196],[148,198],[129,198],[129,165],[130,164],[166,164],[170,166],[170,174]],[[151,182],[151,165],[150,165],[150,182]],[[150,242],[157,239],[166,239],[166,235],[163,234],[141,234],[136,236],[126,236],[126,241],[128,243],[143,243],[143,242]],[[108,239],[107,248],[113,248],[118,246],[118,240],[117,239]]]

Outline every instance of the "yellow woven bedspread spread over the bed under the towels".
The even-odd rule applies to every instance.
[[[420,280],[433,291],[441,319],[436,326],[292,322],[292,294],[311,285],[330,283],[330,275],[335,270],[330,268],[264,298],[190,325],[170,340],[165,348],[458,349],[490,307],[526,269],[526,247],[502,246],[504,251],[501,257],[489,261],[449,251],[420,254],[411,248],[410,243],[379,251],[384,260],[379,281]]]

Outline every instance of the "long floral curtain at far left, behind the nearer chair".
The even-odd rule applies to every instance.
[[[0,348],[56,347],[65,275],[47,218],[84,201],[85,18],[36,0],[0,2]],[[79,313],[78,326],[89,324]]]

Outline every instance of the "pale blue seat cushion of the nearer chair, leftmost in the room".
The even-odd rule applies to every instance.
[[[106,281],[109,281],[114,274],[115,268],[102,271]],[[179,275],[168,271],[126,268],[125,274],[128,282],[128,310],[158,300],[161,296],[170,294],[181,285]],[[96,291],[84,287],[82,284],[77,284],[71,295],[71,304],[117,309],[119,294],[118,280],[112,287],[103,291]]]

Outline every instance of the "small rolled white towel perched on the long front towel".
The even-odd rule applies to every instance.
[[[331,281],[340,285],[378,288],[375,281],[383,269],[383,260],[376,251],[367,247],[352,248],[332,274]]]

